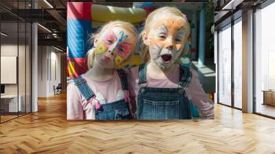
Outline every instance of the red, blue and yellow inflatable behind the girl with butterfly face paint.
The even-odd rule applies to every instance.
[[[147,9],[144,10],[144,9]],[[108,21],[121,20],[133,23],[140,29],[146,12],[153,10],[152,6],[143,8],[119,8],[91,2],[67,3],[67,76],[76,78],[87,72],[87,52],[91,49],[90,34]],[[95,13],[96,12],[96,13]],[[135,53],[129,61],[118,66],[140,65],[140,54]]]

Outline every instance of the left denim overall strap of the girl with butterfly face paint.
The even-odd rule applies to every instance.
[[[86,100],[94,97],[94,91],[91,90],[91,88],[87,84],[87,81],[82,76],[78,76],[78,78],[75,78],[74,84],[78,87],[78,90]]]

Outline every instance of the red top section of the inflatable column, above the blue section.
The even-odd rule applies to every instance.
[[[91,2],[67,2],[67,19],[91,20]]]

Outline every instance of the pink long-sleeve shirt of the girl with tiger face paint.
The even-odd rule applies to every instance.
[[[140,90],[140,87],[157,87],[157,88],[177,88],[179,85],[179,65],[176,65],[172,72],[164,79],[155,79],[146,74],[147,83],[138,85],[138,67],[133,67],[129,71],[130,78],[130,97],[131,101],[137,102],[137,94]],[[204,118],[213,119],[214,118],[214,103],[208,98],[205,91],[199,83],[199,76],[195,69],[190,69],[192,72],[192,79],[186,90],[188,99],[195,104],[197,109],[201,112]]]

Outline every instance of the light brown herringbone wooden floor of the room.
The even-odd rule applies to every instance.
[[[66,96],[0,124],[0,153],[275,153],[275,120],[217,104],[215,120],[67,121]]]

